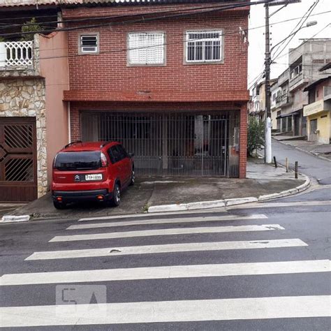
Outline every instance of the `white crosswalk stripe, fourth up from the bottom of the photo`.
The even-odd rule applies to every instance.
[[[132,237],[152,237],[155,235],[191,235],[194,233],[228,233],[247,231],[285,230],[279,224],[263,224],[261,226],[205,226],[200,228],[170,228],[142,231],[126,231],[112,233],[96,233],[89,235],[57,235],[49,242],[74,242],[78,240],[101,240]]]

